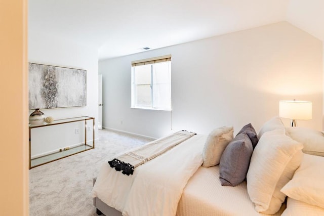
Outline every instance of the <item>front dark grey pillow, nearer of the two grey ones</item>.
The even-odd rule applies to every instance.
[[[238,134],[228,144],[219,163],[222,186],[236,186],[246,179],[252,152],[252,142],[247,133]]]

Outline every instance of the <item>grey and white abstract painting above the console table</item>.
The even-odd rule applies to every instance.
[[[87,71],[29,63],[29,109],[87,106]]]

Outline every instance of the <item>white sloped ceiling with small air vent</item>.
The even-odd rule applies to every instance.
[[[322,0],[29,0],[28,31],[98,49],[99,60],[288,21],[324,41]]]

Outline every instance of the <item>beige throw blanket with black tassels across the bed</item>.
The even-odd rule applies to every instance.
[[[179,131],[170,136],[157,139],[138,149],[123,153],[108,161],[110,167],[125,175],[133,175],[134,168],[172,149],[176,145],[196,135],[193,132]]]

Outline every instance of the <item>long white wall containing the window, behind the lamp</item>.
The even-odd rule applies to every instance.
[[[172,115],[131,109],[131,61],[168,54]],[[313,119],[298,125],[322,129],[322,64],[321,41],[287,22],[100,61],[103,126],[149,137],[171,125],[204,134],[233,125],[237,133],[251,122],[259,131],[278,115],[279,100],[296,99],[313,102]]]

